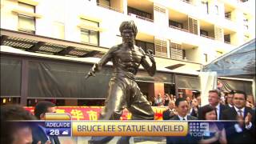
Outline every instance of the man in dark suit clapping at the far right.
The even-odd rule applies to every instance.
[[[246,93],[235,91],[234,106],[224,110],[223,120],[238,120],[234,125],[226,128],[229,143],[254,143],[255,142],[255,111],[246,107]]]

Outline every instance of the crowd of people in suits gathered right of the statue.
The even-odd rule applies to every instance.
[[[166,138],[166,143],[254,143],[255,142],[255,107],[243,91],[231,91],[222,99],[219,90],[210,90],[208,104],[201,106],[200,96],[177,98],[170,101],[163,111],[164,120],[233,120],[234,125],[222,126],[210,123],[209,132],[200,139]],[[175,104],[175,105],[174,105]],[[195,142],[196,141],[196,142]]]

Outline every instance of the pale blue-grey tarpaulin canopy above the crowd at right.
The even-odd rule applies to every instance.
[[[255,38],[203,66],[218,77],[253,78],[255,76]]]

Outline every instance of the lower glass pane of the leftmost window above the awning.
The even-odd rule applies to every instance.
[[[18,28],[24,30],[35,30],[34,18],[18,15]]]

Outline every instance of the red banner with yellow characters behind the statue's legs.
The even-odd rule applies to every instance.
[[[34,107],[25,107],[34,114]],[[166,107],[152,106],[154,110],[154,120],[162,120],[162,112]],[[98,120],[99,114],[102,111],[102,106],[57,106],[56,113],[68,113],[72,120]],[[128,110],[123,110],[121,120],[129,120],[131,114]]]

